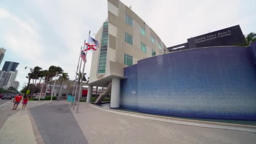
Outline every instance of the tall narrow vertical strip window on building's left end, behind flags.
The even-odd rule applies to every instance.
[[[99,53],[99,64],[98,64],[99,74],[105,73],[106,71],[108,39],[109,39],[108,22],[104,22],[102,35],[101,35],[101,47],[100,47],[100,53]]]

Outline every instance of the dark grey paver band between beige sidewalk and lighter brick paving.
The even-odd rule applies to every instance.
[[[69,104],[54,102],[29,109],[45,144],[87,144]]]

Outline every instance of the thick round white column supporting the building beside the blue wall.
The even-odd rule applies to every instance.
[[[120,78],[112,78],[112,87],[111,87],[111,99],[110,99],[110,108],[118,109],[120,101]]]

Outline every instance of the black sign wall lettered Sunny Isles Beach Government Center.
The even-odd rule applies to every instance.
[[[205,35],[187,39],[189,48],[208,46],[231,46],[243,43],[244,35],[239,25],[210,32]]]

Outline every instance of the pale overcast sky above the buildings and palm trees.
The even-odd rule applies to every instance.
[[[256,0],[121,0],[151,27],[167,47],[187,38],[240,24],[256,32]],[[19,63],[19,90],[28,69],[59,66],[75,78],[84,40],[107,18],[107,0],[0,0],[0,47],[5,61]],[[92,51],[85,72],[90,73]]]

